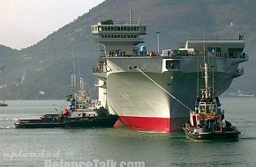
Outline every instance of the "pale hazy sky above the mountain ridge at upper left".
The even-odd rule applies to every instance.
[[[104,0],[0,0],[0,44],[34,45]]]

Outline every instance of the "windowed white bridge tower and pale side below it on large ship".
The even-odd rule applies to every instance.
[[[114,22],[109,19],[97,25],[92,25],[92,33],[97,35],[96,42],[100,43],[101,57],[94,67],[94,76],[99,80],[95,86],[99,87],[99,101],[107,108],[107,57],[137,56],[139,54],[139,43],[144,40],[140,35],[146,34],[146,25],[134,22]],[[109,71],[110,72],[110,71]]]

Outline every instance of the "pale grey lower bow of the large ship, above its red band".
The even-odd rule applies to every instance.
[[[147,75],[193,110],[197,96],[197,73],[184,75],[177,72],[176,80],[173,80],[172,84],[169,84],[169,78],[173,76],[172,72],[147,73]],[[224,76],[220,74],[219,77]],[[225,79],[222,80],[222,84],[215,85],[218,90],[216,94],[225,91],[231,81],[231,78]],[[189,117],[187,108],[141,73],[124,72],[109,75],[107,98],[110,112],[117,113],[119,116]]]

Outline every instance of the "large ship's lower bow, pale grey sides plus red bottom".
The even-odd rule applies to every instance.
[[[174,98],[180,99],[185,107],[141,73],[112,73],[108,76],[107,86],[109,111],[119,116],[124,127],[166,133],[180,131],[189,120],[188,108],[193,110],[197,75],[197,72],[184,74],[180,71],[147,73]],[[226,78],[216,85],[217,95],[230,86],[232,78],[227,76],[216,74],[216,77]]]

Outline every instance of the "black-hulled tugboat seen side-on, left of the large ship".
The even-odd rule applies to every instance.
[[[84,79],[80,78],[79,93],[75,93],[75,76],[72,76],[73,94],[66,97],[70,107],[61,114],[45,114],[40,119],[17,120],[17,128],[53,128],[53,127],[113,127],[117,115],[109,114],[100,104],[92,103],[84,89]]]

